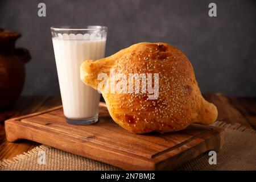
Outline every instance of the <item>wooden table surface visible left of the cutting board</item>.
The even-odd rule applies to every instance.
[[[19,140],[15,143],[7,142],[4,126],[6,119],[35,113],[60,104],[60,96],[22,96],[13,107],[0,111],[0,160],[11,159],[40,145],[40,143],[29,140]]]

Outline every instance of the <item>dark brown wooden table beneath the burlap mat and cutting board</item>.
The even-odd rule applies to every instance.
[[[225,97],[223,94],[203,94],[206,100],[218,108],[218,121],[240,123],[256,130],[256,97]],[[16,104],[0,111],[0,160],[11,159],[40,145],[28,140],[10,143],[5,138],[4,121],[20,115],[35,113],[61,104],[60,96],[22,96]]]

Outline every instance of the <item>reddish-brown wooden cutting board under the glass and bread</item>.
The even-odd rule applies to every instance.
[[[206,151],[220,150],[224,139],[224,130],[201,125],[175,133],[133,134],[112,120],[103,103],[99,119],[93,125],[69,125],[57,106],[5,121],[6,138],[33,140],[127,170],[174,169]]]

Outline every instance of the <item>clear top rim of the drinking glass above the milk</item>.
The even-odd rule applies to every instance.
[[[87,27],[87,28],[85,28]],[[88,28],[92,27],[92,28]],[[51,26],[51,30],[62,30],[62,31],[69,31],[69,30],[74,30],[74,31],[86,31],[86,30],[108,30],[108,27],[106,26],[99,26],[99,25],[88,25],[88,26]]]

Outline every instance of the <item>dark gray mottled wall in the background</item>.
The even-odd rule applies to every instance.
[[[38,3],[47,6],[39,18]],[[217,3],[217,18],[208,16]],[[30,50],[23,94],[59,94],[49,27],[109,27],[106,56],[137,42],[167,42],[191,60],[202,92],[256,96],[256,1],[0,1],[0,27],[20,31]]]

